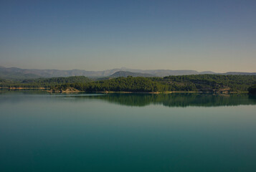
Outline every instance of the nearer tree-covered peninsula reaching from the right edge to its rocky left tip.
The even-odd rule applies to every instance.
[[[124,92],[247,92],[256,84],[253,75],[184,75],[169,77],[118,77],[110,80],[65,84],[55,90],[73,87],[86,92],[124,91]]]

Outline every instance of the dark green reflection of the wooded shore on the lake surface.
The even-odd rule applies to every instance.
[[[107,100],[119,105],[146,106],[158,104],[169,107],[186,106],[233,106],[233,105],[256,105],[255,97],[247,94],[210,95],[196,93],[174,93],[163,95],[150,94],[108,94],[105,96],[90,96],[87,98]]]

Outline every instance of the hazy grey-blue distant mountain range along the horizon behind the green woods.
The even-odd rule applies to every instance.
[[[0,78],[10,80],[22,80],[38,77],[70,77],[70,76],[86,76],[86,77],[165,77],[169,75],[200,75],[200,74],[220,74],[220,75],[256,75],[256,72],[226,72],[216,73],[212,71],[198,72],[196,70],[133,70],[128,68],[120,68],[103,71],[87,71],[87,70],[36,70],[36,69],[20,69],[16,67],[0,67]]]

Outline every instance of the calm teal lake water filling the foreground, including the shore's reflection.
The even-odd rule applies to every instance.
[[[0,94],[0,171],[256,171],[246,94]]]

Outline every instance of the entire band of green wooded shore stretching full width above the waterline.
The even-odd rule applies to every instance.
[[[255,75],[182,75],[169,77],[117,77],[93,81],[87,77],[53,77],[19,82],[0,80],[0,87],[51,87],[85,92],[247,92],[256,85]]]

